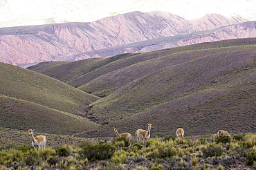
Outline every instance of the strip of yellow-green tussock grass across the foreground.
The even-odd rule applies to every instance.
[[[248,140],[255,138],[253,134],[246,136]],[[231,140],[228,144],[217,144],[214,141],[209,141],[201,144],[200,140],[185,138],[186,142],[181,144],[178,140],[151,138],[147,147],[144,146],[141,149],[133,147],[136,146],[136,143],[122,149],[116,147],[111,158],[102,158],[102,160],[98,160],[101,157],[96,160],[85,158],[84,147],[77,145],[64,144],[62,148],[50,146],[42,151],[35,151],[33,147],[26,145],[2,147],[0,149],[0,164],[2,169],[10,167],[29,169],[31,166],[34,169],[228,169],[230,166],[246,169],[256,167],[256,164],[253,163],[254,155],[256,155],[254,147],[250,147],[244,142]],[[109,141],[109,143],[113,143],[113,141]],[[98,147],[100,152],[104,150],[102,144],[94,145],[94,147]],[[216,155],[214,154],[216,150],[212,150],[213,148],[221,149],[224,152],[221,155]],[[68,155],[58,153],[60,149],[68,151]],[[205,156],[205,154],[201,154],[204,150],[212,153]],[[106,151],[104,150],[104,152]],[[108,153],[104,154],[108,155]]]

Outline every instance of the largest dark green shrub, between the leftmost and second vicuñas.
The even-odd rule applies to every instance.
[[[88,160],[107,160],[111,158],[116,151],[115,147],[111,147],[109,144],[95,144],[88,145],[82,148],[80,154]]]

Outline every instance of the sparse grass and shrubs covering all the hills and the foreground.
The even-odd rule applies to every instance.
[[[39,64],[51,75],[73,68],[56,72],[63,82],[1,64],[0,169],[255,168],[256,135],[241,133],[256,129],[256,46],[234,41]],[[148,123],[146,147],[113,140],[113,125]],[[44,151],[28,145],[30,128],[47,136]],[[219,129],[235,135],[212,140]]]

